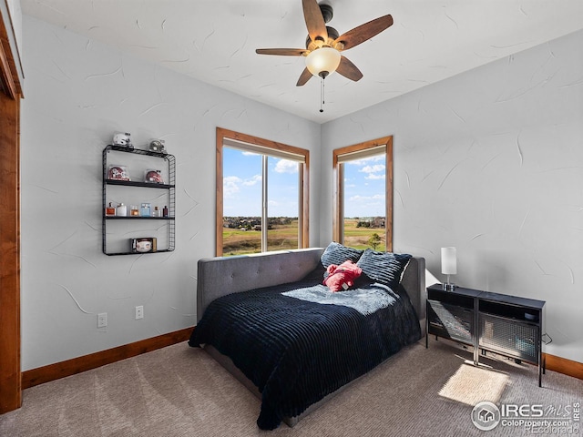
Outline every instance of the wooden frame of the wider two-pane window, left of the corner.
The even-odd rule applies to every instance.
[[[304,162],[298,162],[300,167],[299,170],[299,211],[298,219],[299,224],[299,236],[298,245],[301,249],[309,247],[310,238],[310,225],[309,225],[309,212],[310,212],[310,150],[302,147],[288,146],[286,144],[278,143],[276,141],[271,141],[270,139],[265,139],[261,137],[253,137],[251,135],[242,134],[240,132],[235,132],[233,130],[225,129],[223,127],[217,127],[216,135],[216,149],[217,149],[217,160],[216,160],[216,191],[217,191],[217,202],[216,202],[216,221],[215,221],[215,256],[222,257],[222,228],[223,228],[223,159],[222,159],[222,148],[225,146],[225,140],[236,141],[240,143],[239,148],[244,148],[245,144],[250,145],[250,151],[256,151],[256,147],[261,147],[264,149],[273,150],[274,155],[277,156],[278,152],[288,153],[292,155],[297,155],[303,157]],[[254,147],[255,146],[255,147]],[[228,145],[226,147],[229,147]],[[269,155],[269,153],[268,153]],[[281,153],[280,153],[281,155]],[[269,182],[268,182],[269,183]]]

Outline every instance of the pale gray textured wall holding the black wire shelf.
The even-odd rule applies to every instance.
[[[308,148],[319,167],[320,126],[27,15],[24,54],[23,370],[193,326],[197,260],[215,247],[215,128]],[[164,138],[177,158],[174,252],[101,252],[101,153],[116,131],[137,147]],[[311,184],[317,223],[317,171]]]

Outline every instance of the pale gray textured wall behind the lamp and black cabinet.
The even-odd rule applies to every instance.
[[[325,157],[393,135],[395,251],[444,279],[455,246],[457,284],[546,300],[546,351],[583,362],[582,46],[571,34],[323,125],[321,244]]]

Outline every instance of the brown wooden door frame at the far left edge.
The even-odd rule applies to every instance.
[[[20,98],[0,12],[0,413],[20,408]]]

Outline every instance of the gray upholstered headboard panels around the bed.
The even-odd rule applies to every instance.
[[[318,266],[323,248],[281,250],[236,257],[199,259],[197,321],[210,302],[225,294],[302,279]],[[424,326],[425,259],[413,258],[402,283]]]

